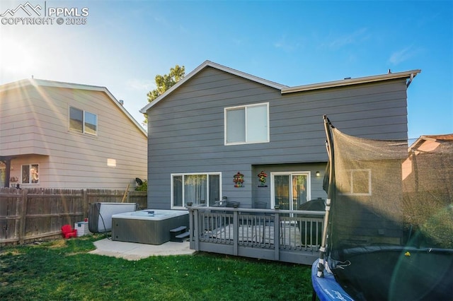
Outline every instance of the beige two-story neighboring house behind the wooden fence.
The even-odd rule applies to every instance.
[[[0,85],[0,187],[125,189],[147,177],[147,133],[105,87]]]

